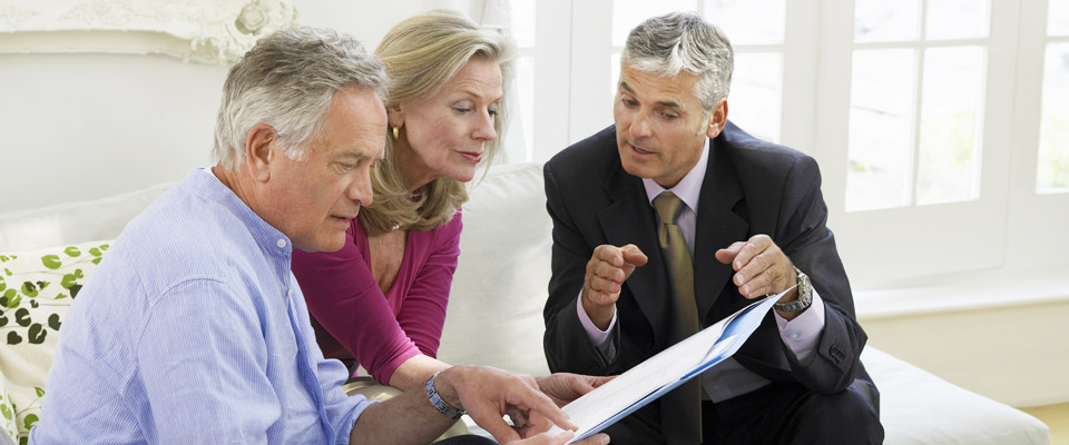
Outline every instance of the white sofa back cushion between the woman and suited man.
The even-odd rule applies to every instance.
[[[438,356],[449,364],[547,375],[542,306],[552,221],[541,165],[494,166],[469,196]]]

